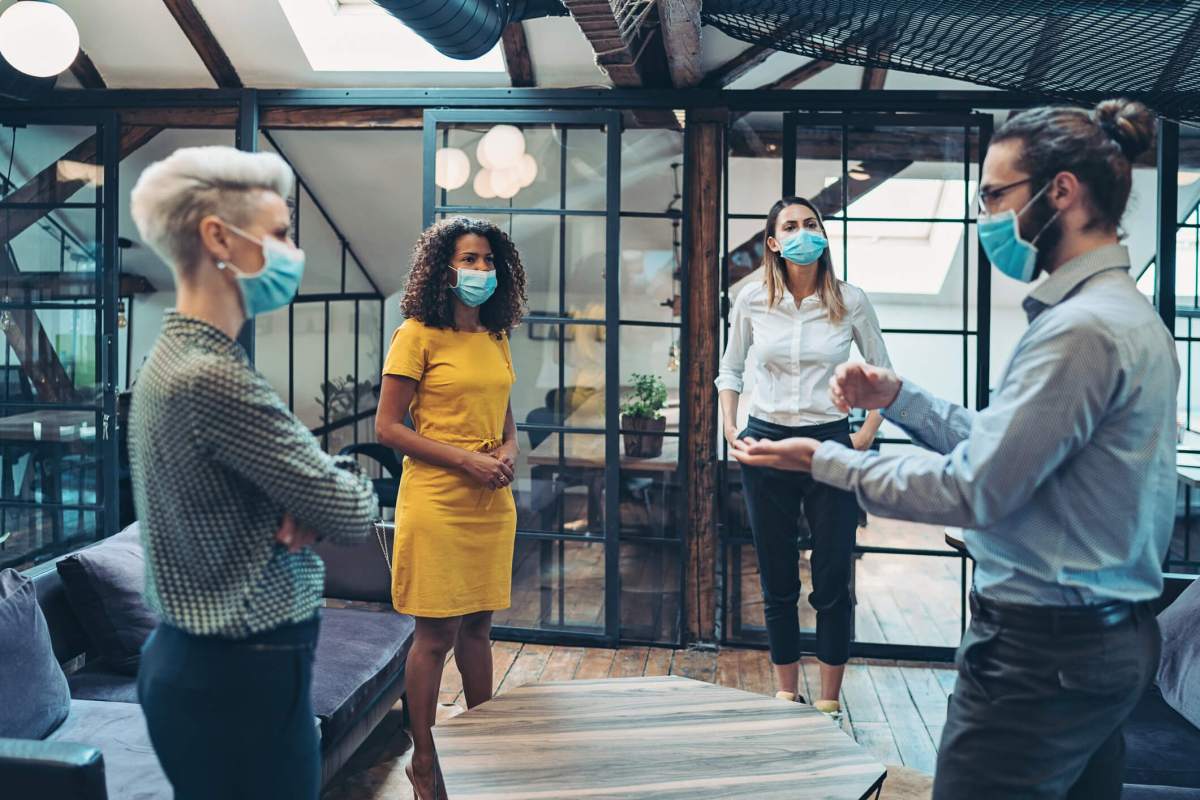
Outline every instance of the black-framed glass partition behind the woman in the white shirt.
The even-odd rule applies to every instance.
[[[979,375],[989,374],[990,275],[976,239],[973,197],[990,125],[990,116],[977,114],[736,116],[726,169],[726,318],[737,293],[762,278],[770,205],[799,194],[824,217],[839,277],[870,296],[895,368],[940,396],[985,404],[988,380]],[[764,192],[767,186],[775,191]],[[739,426],[754,392],[745,387]],[[913,445],[884,423],[876,446]],[[724,441],[721,449],[727,452]],[[740,473],[727,456],[722,465],[722,634],[761,644],[766,628]],[[938,527],[863,515],[853,565],[854,652],[946,657],[958,645],[970,567],[944,535]],[[812,643],[805,542],[802,534],[800,610],[803,638]],[[912,591],[914,581],[919,593]]]

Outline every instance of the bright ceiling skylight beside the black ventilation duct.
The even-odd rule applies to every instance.
[[[448,58],[370,0],[278,2],[317,72],[504,72],[499,47],[474,61]]]

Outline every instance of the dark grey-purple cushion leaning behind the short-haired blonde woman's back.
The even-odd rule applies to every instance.
[[[59,577],[96,654],[109,668],[138,672],[158,618],[142,596],[145,554],[137,524],[58,563]]]

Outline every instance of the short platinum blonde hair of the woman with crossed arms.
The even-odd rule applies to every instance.
[[[146,167],[130,197],[142,240],[187,273],[200,255],[200,219],[217,215],[246,224],[260,192],[288,197],[295,176],[274,152],[182,148]]]

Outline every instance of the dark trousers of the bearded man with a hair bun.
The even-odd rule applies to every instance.
[[[976,612],[959,646],[934,800],[1117,800],[1121,724],[1154,679],[1159,648],[1146,606],[1086,633],[1031,632]]]

